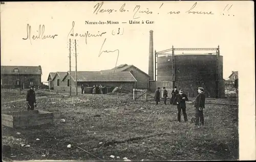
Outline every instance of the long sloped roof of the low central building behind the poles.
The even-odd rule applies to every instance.
[[[75,80],[75,71],[71,71],[71,77]],[[77,71],[77,82],[137,82],[137,80],[129,71]]]

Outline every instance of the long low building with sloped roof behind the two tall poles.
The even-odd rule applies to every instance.
[[[62,75],[63,76],[63,75]],[[76,92],[75,87],[75,71],[66,72],[66,75],[62,78],[59,86],[55,84],[56,78],[54,78],[54,89],[61,91],[70,91],[70,83],[72,92]],[[81,92],[81,85],[84,87],[93,87],[96,85],[102,85],[105,87],[119,87],[123,85],[123,91],[133,91],[137,80],[129,71],[123,72],[108,72],[108,71],[77,71],[77,85],[78,93]]]

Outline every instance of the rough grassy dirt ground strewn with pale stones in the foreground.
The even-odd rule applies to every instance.
[[[2,92],[2,111],[26,110],[25,93]],[[11,102],[16,100],[16,102]],[[206,99],[233,103],[234,99]],[[161,101],[37,92],[37,110],[54,113],[54,123],[30,128],[2,126],[3,144],[13,160],[237,160],[238,107],[206,104],[205,126],[177,123],[177,108]],[[66,123],[60,120],[65,119]],[[20,134],[17,134],[19,132]],[[37,141],[36,139],[39,139]],[[30,147],[21,146],[22,144]],[[71,148],[67,148],[67,145]],[[110,157],[114,155],[115,157]],[[119,156],[120,158],[117,158]]]

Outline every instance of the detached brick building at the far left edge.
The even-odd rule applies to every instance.
[[[41,66],[1,66],[1,87],[29,88],[41,85]]]

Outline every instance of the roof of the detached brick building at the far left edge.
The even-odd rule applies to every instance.
[[[14,72],[18,69],[18,73]],[[1,66],[1,74],[42,74],[41,66]]]

